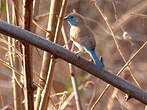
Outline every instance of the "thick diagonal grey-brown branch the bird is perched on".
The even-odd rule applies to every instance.
[[[147,92],[137,88],[127,80],[124,80],[110,72],[100,70],[95,64],[88,62],[87,60],[76,56],[74,53],[61,47],[58,44],[54,44],[51,41],[47,41],[40,36],[33,34],[27,30],[23,30],[19,27],[0,22],[0,33],[13,37],[23,43],[28,42],[42,50],[45,50],[56,57],[59,57],[87,72],[104,80],[105,82],[113,85],[121,91],[127,93],[130,97],[147,104]],[[147,44],[147,42],[146,42]]]

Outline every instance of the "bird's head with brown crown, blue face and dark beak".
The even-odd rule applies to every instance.
[[[64,17],[70,25],[78,26],[84,23],[84,18],[78,13],[70,13]]]

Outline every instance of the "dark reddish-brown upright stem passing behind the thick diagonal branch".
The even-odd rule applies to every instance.
[[[32,30],[32,13],[33,13],[33,0],[25,0],[24,6],[24,28]],[[26,42],[24,44],[23,53],[24,58],[24,96],[25,96],[25,109],[34,110],[34,90],[33,85],[33,66],[32,66],[32,47]]]

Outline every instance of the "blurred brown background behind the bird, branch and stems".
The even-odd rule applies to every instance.
[[[0,19],[7,21],[7,3],[9,8],[13,5],[13,0],[0,0]],[[126,61],[147,41],[147,2],[146,0],[97,0],[99,8],[107,17],[115,38],[118,43],[119,50]],[[146,4],[145,4],[146,3]],[[19,1],[22,4],[22,1]],[[23,6],[23,5],[22,5]],[[47,28],[50,1],[40,0],[39,13],[37,19],[38,25]],[[69,0],[66,14],[73,10],[85,16],[87,25],[93,30],[97,42],[96,50],[99,56],[103,57],[106,70],[117,73],[125,64],[118,48],[114,42],[111,32],[106,25],[103,17],[90,0]],[[11,9],[9,9],[11,15]],[[21,8],[19,9],[21,12]],[[22,16],[22,13],[20,13]],[[23,16],[22,16],[23,17]],[[12,19],[10,17],[10,19]],[[21,21],[21,19],[20,19]],[[20,22],[21,27],[21,22]],[[69,39],[70,26],[67,22],[63,23],[67,39]],[[45,37],[45,32],[40,28],[36,28],[36,34]],[[58,42],[64,46],[62,34]],[[9,52],[8,38],[0,35],[0,108],[10,105],[13,107],[13,78],[12,68],[10,69],[10,52]],[[70,43],[71,46],[71,43]],[[75,50],[77,48],[75,47]],[[19,52],[18,52],[19,53]],[[81,53],[80,56],[89,60],[89,56]],[[33,47],[33,72],[38,74],[41,70],[43,51]],[[19,59],[22,59],[19,56]],[[20,60],[21,61],[21,60]],[[23,65],[20,65],[20,68]],[[22,70],[17,68],[19,72]],[[80,88],[80,99],[84,110],[90,110],[97,98],[106,87],[107,83],[91,76],[87,72],[73,67],[74,74]],[[131,71],[131,72],[130,72]],[[68,63],[56,59],[56,66],[54,68],[54,81],[52,95],[61,93],[55,103],[64,102],[72,93],[72,84],[69,74]],[[38,77],[34,74],[34,81],[38,83]],[[130,69],[126,68],[121,77],[131,81],[143,90],[147,90],[147,46],[143,48],[139,54],[132,60]],[[21,79],[22,80],[22,79]],[[76,110],[75,99],[72,97],[64,108],[64,110]],[[22,102],[23,103],[23,102]],[[62,105],[62,104],[61,104]],[[109,88],[100,101],[96,104],[94,110],[143,110],[145,105],[141,102],[131,99],[125,101],[125,94],[120,90]]]

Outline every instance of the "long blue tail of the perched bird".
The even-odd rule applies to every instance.
[[[100,61],[99,57],[96,55],[96,52],[94,49],[86,49],[88,54],[92,57],[92,59],[94,60],[94,63],[100,67],[100,68],[104,68],[104,64]]]

